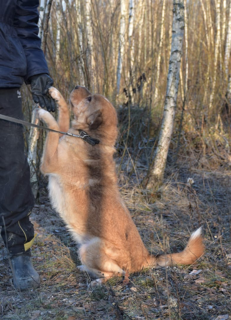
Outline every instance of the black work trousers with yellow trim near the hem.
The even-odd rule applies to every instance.
[[[0,114],[23,120],[18,88],[0,89]],[[34,238],[29,214],[34,206],[23,126],[0,119],[0,226],[11,254],[28,250]]]

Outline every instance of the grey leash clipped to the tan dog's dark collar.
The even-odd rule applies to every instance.
[[[24,120],[12,118],[12,117],[9,117],[9,116],[4,116],[4,115],[1,115],[1,114],[0,114],[0,119],[6,120],[6,121],[10,121],[10,122],[14,122],[14,123],[19,123],[19,124],[30,126],[30,127],[35,127],[35,128],[38,128],[38,129],[43,129],[43,130],[47,130],[47,131],[52,131],[52,132],[56,132],[56,133],[65,134],[67,136],[81,138],[81,139],[83,139],[83,141],[90,143],[92,146],[100,143],[100,141],[98,139],[94,139],[94,138],[90,137],[83,130],[78,130],[79,135],[77,135],[77,134],[73,134],[73,133],[69,133],[69,132],[56,131],[56,130],[53,130],[53,129],[50,129],[50,128],[47,128],[47,127],[43,127],[43,126],[41,126],[39,124],[30,123],[30,122],[27,122],[27,121],[24,121]]]

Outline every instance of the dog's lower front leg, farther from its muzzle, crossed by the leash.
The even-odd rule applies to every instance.
[[[59,126],[55,118],[48,111],[39,108],[38,118],[45,122],[48,128],[59,131]],[[58,163],[58,143],[59,134],[56,132],[48,132],[40,167],[43,174],[55,171],[56,164]]]

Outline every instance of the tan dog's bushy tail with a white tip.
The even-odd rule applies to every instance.
[[[198,228],[192,233],[190,239],[182,252],[163,254],[160,256],[149,256],[148,264],[153,268],[163,268],[174,265],[190,265],[199,259],[205,250],[203,237],[201,235],[202,228]]]

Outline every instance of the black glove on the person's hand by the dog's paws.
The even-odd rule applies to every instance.
[[[32,98],[35,103],[39,103],[41,108],[47,108],[49,112],[55,112],[56,103],[48,93],[53,80],[46,73],[40,73],[29,78],[31,84]]]

